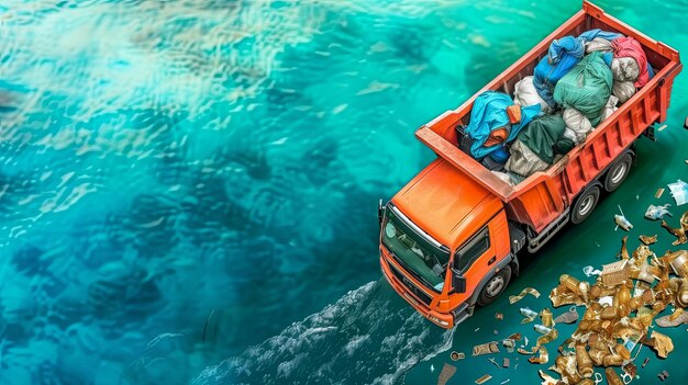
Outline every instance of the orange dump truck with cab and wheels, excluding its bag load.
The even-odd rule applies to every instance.
[[[552,41],[601,29],[637,39],[655,76],[578,146],[515,186],[458,147],[474,100],[487,90],[511,94],[533,73]],[[380,264],[391,286],[432,322],[452,328],[476,305],[493,302],[519,274],[518,254],[535,252],[568,222],[582,222],[602,190],[625,179],[641,134],[654,138],[666,118],[678,53],[600,8],[582,10],[462,106],[423,125],[415,136],[436,155],[386,205],[380,201]]]

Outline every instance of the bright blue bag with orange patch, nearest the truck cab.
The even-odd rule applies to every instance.
[[[466,134],[474,140],[470,146],[474,158],[482,159],[512,141],[521,128],[540,114],[540,104],[521,106],[521,121],[511,124],[507,115],[510,105],[513,105],[511,97],[501,92],[485,91],[476,98],[470,110],[470,123],[466,126]],[[490,146],[486,146],[488,139]]]

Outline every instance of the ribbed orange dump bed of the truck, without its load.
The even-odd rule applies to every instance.
[[[592,29],[619,32],[637,39],[656,75],[613,115],[601,122],[587,136],[585,143],[576,146],[546,171],[536,172],[515,186],[503,182],[470,155],[458,149],[455,128],[457,125],[468,124],[470,109],[478,94],[487,90],[512,94],[513,86],[533,73],[535,65],[547,54],[552,41],[566,35],[578,36]],[[664,122],[674,78],[681,68],[678,52],[643,35],[586,1],[581,11],[467,102],[422,126],[415,132],[415,136],[439,156],[501,199],[511,219],[526,224],[540,233],[562,215],[574,197],[598,178],[648,126]]]

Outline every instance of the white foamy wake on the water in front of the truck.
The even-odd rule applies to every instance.
[[[193,384],[396,384],[418,362],[447,350],[452,336],[380,280],[207,367]]]

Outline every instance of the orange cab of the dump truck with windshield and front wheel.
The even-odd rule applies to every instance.
[[[380,211],[380,264],[391,286],[443,328],[488,305],[518,260],[502,202],[442,158]]]

